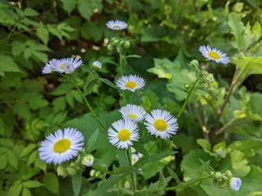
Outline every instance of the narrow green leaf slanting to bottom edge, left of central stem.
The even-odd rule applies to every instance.
[[[124,175],[111,175],[99,188],[97,188],[96,192],[94,195],[100,196],[100,195],[105,195],[106,191],[109,188],[112,188],[114,184],[117,184],[123,177]]]

